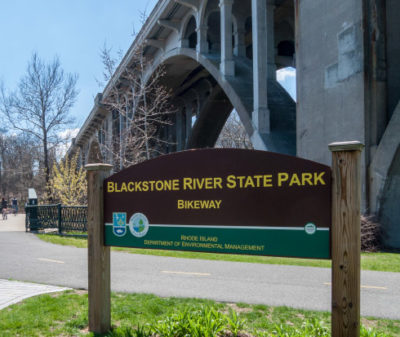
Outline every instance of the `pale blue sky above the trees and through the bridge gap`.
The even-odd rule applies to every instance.
[[[50,62],[57,55],[67,73],[78,74],[79,96],[71,110],[79,128],[97,93],[103,91],[100,51],[104,44],[125,53],[133,32],[141,28],[140,13],[150,14],[157,0],[1,0],[0,81],[14,90],[34,52]],[[294,95],[295,70],[278,73]]]

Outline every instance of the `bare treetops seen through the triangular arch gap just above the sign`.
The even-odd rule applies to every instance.
[[[227,119],[215,147],[253,149],[253,144],[235,110]]]

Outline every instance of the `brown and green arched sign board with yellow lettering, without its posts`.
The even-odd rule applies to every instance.
[[[330,258],[331,169],[272,152],[206,149],[104,182],[109,246]]]

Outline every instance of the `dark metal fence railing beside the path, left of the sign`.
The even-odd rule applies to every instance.
[[[25,213],[26,231],[87,232],[87,206],[27,205]]]

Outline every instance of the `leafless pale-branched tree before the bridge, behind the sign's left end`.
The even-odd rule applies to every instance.
[[[110,94],[103,99],[107,110],[117,119],[119,137],[111,144],[102,144],[111,151],[116,169],[123,169],[138,162],[163,154],[171,140],[162,137],[162,129],[171,124],[171,92],[162,84],[165,71],[158,67],[148,76],[150,59],[143,53],[143,46],[133,54],[129,67],[124,68],[117,82],[111,83]],[[106,46],[101,51],[104,79],[110,80],[118,63]]]

